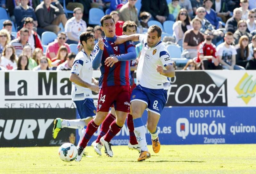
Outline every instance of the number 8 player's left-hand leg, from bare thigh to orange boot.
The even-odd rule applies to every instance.
[[[141,148],[140,156],[138,161],[143,161],[147,158],[150,158],[151,155],[148,152],[147,141],[146,141],[146,130],[144,123],[142,121],[142,114],[147,108],[147,104],[141,101],[132,101],[131,110],[134,124],[134,134],[137,138],[139,146]]]

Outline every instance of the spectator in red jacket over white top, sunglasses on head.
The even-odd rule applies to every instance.
[[[23,27],[28,29],[28,43],[31,45],[32,51],[34,51],[35,48],[43,49],[42,43],[41,43],[41,40],[39,39],[38,34],[35,31],[33,31],[33,26],[34,26],[33,18],[30,18],[30,17],[26,18]],[[18,31],[17,37],[18,38],[20,37],[20,31]]]

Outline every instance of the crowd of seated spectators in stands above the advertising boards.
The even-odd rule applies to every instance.
[[[161,25],[165,46],[181,51],[173,57],[168,49],[170,56],[187,60],[183,70],[256,69],[256,0],[0,0],[0,6],[8,14],[1,17],[0,70],[70,70],[80,33],[92,31],[95,43],[104,37],[90,23],[94,8],[114,17],[117,36],[128,20],[137,33]],[[54,38],[43,43],[47,32]]]

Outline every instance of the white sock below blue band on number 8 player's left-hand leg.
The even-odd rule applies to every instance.
[[[134,134],[141,150],[148,151],[145,126],[134,127]]]

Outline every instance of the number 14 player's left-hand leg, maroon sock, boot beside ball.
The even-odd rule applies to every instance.
[[[108,115],[108,112],[97,112],[94,119],[92,119],[86,128],[83,140],[79,144],[79,148],[77,149],[77,157],[76,161],[81,161],[84,148],[86,147],[88,141],[91,139],[92,135],[97,131],[100,124],[103,122],[103,120]]]

